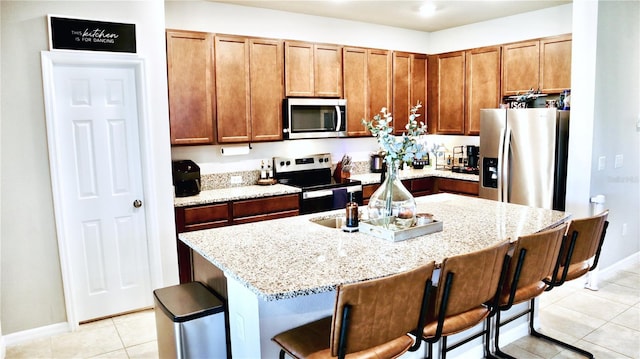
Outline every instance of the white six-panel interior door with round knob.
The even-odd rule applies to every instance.
[[[54,64],[52,72],[47,125],[72,317],[148,307],[136,67]]]

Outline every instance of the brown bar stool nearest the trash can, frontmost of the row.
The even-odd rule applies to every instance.
[[[396,358],[420,347],[408,335],[422,326],[434,263],[337,288],[333,316],[272,338],[280,358]]]

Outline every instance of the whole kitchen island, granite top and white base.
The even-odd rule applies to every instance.
[[[437,194],[416,198],[442,232],[389,242],[312,220],[330,211],[181,233],[180,240],[224,273],[234,358],[277,357],[276,333],[331,315],[335,288],[398,273],[554,227],[564,212]],[[197,269],[196,269],[197,270]],[[197,275],[196,275],[197,277]],[[420,355],[408,353],[407,357]]]

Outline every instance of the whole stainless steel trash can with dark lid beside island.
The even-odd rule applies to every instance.
[[[224,304],[200,282],[153,291],[160,358],[226,358]]]

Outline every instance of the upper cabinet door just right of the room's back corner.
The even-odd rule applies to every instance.
[[[464,134],[464,86],[465,56],[463,51],[438,55],[435,58],[435,92],[431,116],[434,116],[435,133]]]

